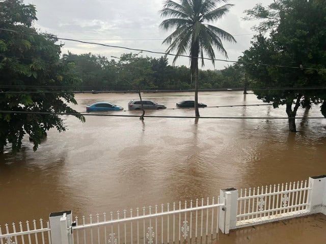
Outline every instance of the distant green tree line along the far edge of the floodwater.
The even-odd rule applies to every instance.
[[[190,69],[171,66],[168,58],[153,58],[125,53],[107,58],[92,53],[63,55],[63,61],[74,63],[74,74],[80,89],[193,89]],[[200,70],[199,88],[243,87],[243,68],[237,65],[223,70]]]

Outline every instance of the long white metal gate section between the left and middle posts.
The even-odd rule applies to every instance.
[[[90,215],[86,223],[75,218],[74,243],[171,243],[219,232],[219,211],[224,203],[213,197],[181,204],[161,204],[123,212],[97,214],[95,222]]]

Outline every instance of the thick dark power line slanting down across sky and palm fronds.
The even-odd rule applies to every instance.
[[[246,64],[246,65],[261,65],[261,66],[270,66],[270,67],[277,67],[277,68],[302,69],[302,67],[294,67],[294,66],[270,65],[270,64],[262,64],[262,63],[255,64],[255,63],[250,63],[250,62],[241,62],[241,61],[226,60],[226,59],[219,59],[219,58],[192,57],[192,56],[181,55],[181,54],[177,55],[177,54],[172,54],[172,53],[157,52],[157,51],[151,51],[151,50],[146,50],[146,49],[129,48],[129,47],[123,47],[123,46],[107,45],[107,44],[103,44],[103,43],[80,41],[80,40],[75,40],[75,39],[70,39],[70,38],[61,38],[61,37],[56,37],[53,35],[41,35],[41,34],[35,34],[35,33],[26,33],[23,31],[18,32],[18,31],[14,31],[13,29],[0,28],[0,30],[14,32],[14,33],[27,34],[27,35],[33,35],[33,36],[42,36],[45,38],[53,38],[53,39],[59,39],[59,40],[65,40],[65,41],[79,42],[79,43],[84,43],[84,44],[93,44],[93,45],[99,45],[99,46],[104,46],[104,47],[121,48],[121,49],[127,49],[127,50],[132,50],[132,51],[139,51],[139,52],[149,52],[149,53],[155,53],[155,54],[164,54],[164,55],[187,57],[187,58],[199,58],[199,59],[205,59],[205,60],[214,60],[214,61],[238,63],[238,64]],[[315,70],[315,71],[326,71],[326,69],[316,69],[316,68],[304,68],[304,69]]]

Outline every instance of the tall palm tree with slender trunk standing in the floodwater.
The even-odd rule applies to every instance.
[[[195,114],[199,117],[198,111],[198,58],[204,57],[204,52],[211,58],[214,65],[215,53],[217,49],[226,58],[227,51],[224,49],[222,40],[236,42],[234,37],[223,31],[223,29],[204,23],[221,19],[232,4],[225,4],[221,7],[216,5],[228,0],[178,0],[179,3],[166,0],[164,8],[160,11],[161,17],[171,17],[162,21],[161,28],[175,31],[168,36],[162,44],[170,45],[167,53],[176,51],[173,59],[175,64],[178,55],[183,55],[189,51],[191,56],[191,79],[195,79]],[[202,66],[204,66],[204,59]]]

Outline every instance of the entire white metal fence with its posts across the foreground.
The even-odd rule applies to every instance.
[[[326,175],[309,177],[309,183],[220,191],[219,197],[161,204],[75,217],[72,211],[51,213],[43,220],[0,226],[0,244],[164,244],[191,242],[219,236],[219,231],[289,219],[321,212],[326,215]],[[17,229],[17,230],[16,230]]]

